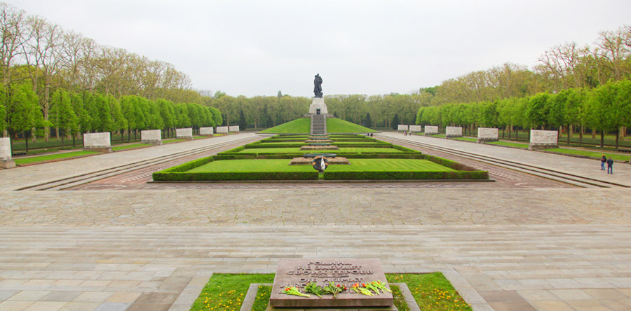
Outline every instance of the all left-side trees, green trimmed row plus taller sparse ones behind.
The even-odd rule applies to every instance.
[[[27,131],[48,141],[50,127],[58,135],[222,123],[167,62],[100,45],[6,3],[0,36],[4,136]]]

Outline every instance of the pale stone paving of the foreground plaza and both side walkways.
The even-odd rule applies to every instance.
[[[631,310],[631,188],[16,191],[246,137],[257,134],[0,170],[0,310],[189,310],[213,272],[273,272],[280,258],[315,257],[444,271],[474,310]],[[631,186],[629,164],[607,175],[597,160],[405,139]]]

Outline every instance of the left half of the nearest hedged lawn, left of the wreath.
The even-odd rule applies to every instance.
[[[205,172],[312,172],[311,165],[289,165],[290,159],[221,160],[195,167],[187,173]]]

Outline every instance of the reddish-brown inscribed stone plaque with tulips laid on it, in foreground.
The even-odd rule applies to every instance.
[[[393,304],[392,293],[367,296],[351,290],[353,284],[381,281],[386,284],[386,275],[379,259],[281,259],[274,277],[269,303],[273,307],[389,307]],[[301,297],[283,293],[286,287],[296,286],[301,293],[307,283],[316,282],[326,286],[335,282],[346,286],[337,298],[331,294],[322,298]]]

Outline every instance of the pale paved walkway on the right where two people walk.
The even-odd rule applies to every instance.
[[[510,160],[517,163],[536,165],[538,167],[544,167],[549,170],[555,170],[557,172],[578,174],[583,177],[589,177],[592,179],[610,181],[615,182],[616,184],[631,186],[631,165],[624,163],[614,163],[614,174],[606,174],[606,172],[600,170],[599,160],[575,158],[566,155],[522,150],[518,148],[506,148],[489,144],[473,144],[467,141],[440,139],[419,135],[404,136],[402,134],[396,133],[376,134],[376,138],[379,138],[380,136],[395,137],[398,139],[406,139],[410,141],[419,141],[423,144],[431,144],[434,146],[452,148],[458,151],[467,151],[490,158],[500,158],[502,160]]]

